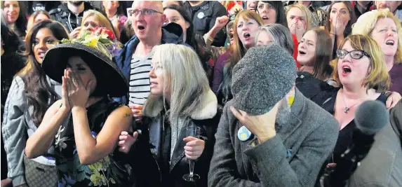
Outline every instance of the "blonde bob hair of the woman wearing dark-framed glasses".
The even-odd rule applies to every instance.
[[[370,55],[370,66],[369,72],[362,82],[362,86],[368,89],[374,88],[377,92],[385,92],[388,90],[390,85],[390,78],[385,66],[384,53],[380,46],[374,39],[371,39],[367,35],[354,34],[348,36],[344,39],[340,45],[340,48],[344,46],[344,43],[350,41],[351,47],[357,50],[364,50],[368,55]],[[337,71],[337,62],[339,59],[335,60],[334,68],[334,78],[337,84],[342,87],[340,82],[339,74]]]

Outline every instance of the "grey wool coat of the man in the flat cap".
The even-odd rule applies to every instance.
[[[296,90],[287,124],[276,124],[276,136],[257,146],[256,138],[240,141],[243,125],[228,102],[215,134],[216,143],[208,186],[314,186],[333,151],[339,132],[337,120]]]

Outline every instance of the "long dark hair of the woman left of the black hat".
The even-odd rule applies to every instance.
[[[52,90],[48,84],[46,74],[41,68],[41,64],[39,64],[34,56],[33,43],[36,34],[43,28],[51,30],[53,36],[55,36],[59,41],[62,39],[69,39],[65,27],[63,27],[59,22],[52,22],[51,20],[44,20],[36,23],[25,37],[27,65],[19,74],[22,76],[25,83],[25,94],[27,96],[28,104],[32,105],[34,109],[31,117],[36,126],[41,124],[43,116],[49,106],[51,106],[58,97],[55,91]]]

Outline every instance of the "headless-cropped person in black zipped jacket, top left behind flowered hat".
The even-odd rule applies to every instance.
[[[67,4],[61,4],[58,8],[53,9],[49,13],[51,14],[52,20],[61,22],[68,32],[72,32],[76,27],[81,26],[81,20],[83,17],[83,12],[87,10],[94,9],[95,11],[100,11],[97,8],[84,1],[67,1]],[[102,13],[102,11],[100,11]]]

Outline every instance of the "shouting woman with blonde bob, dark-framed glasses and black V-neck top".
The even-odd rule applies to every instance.
[[[356,129],[354,115],[359,105],[367,100],[385,104],[389,88],[389,75],[380,46],[368,36],[351,35],[336,50],[334,78],[339,88],[327,85],[326,89],[311,98],[333,114],[340,125],[340,133],[333,155],[323,168],[332,167],[352,143]]]

